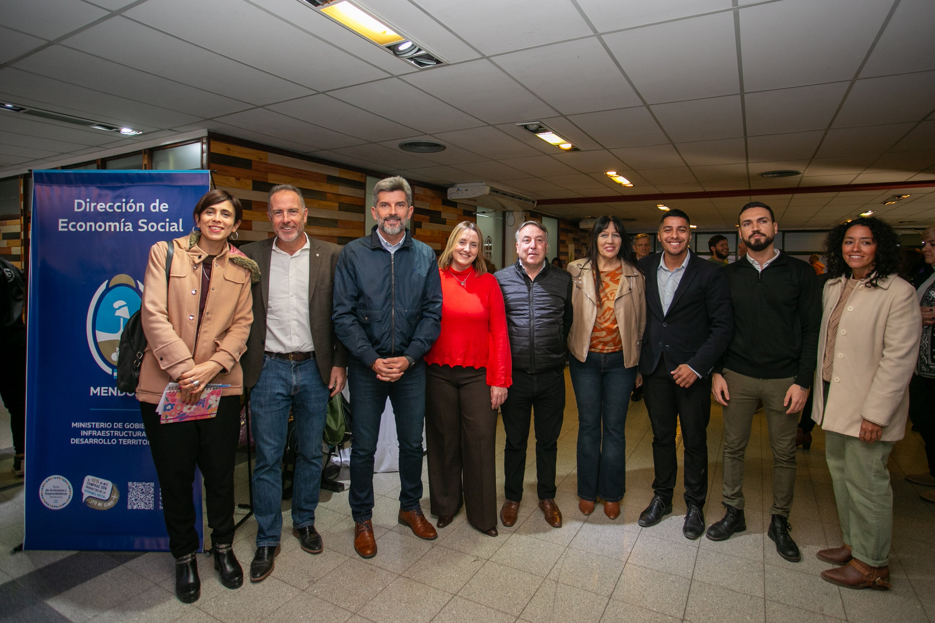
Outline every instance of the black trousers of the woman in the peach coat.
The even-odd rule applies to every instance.
[[[205,479],[211,546],[234,542],[234,457],[240,437],[240,397],[223,396],[214,418],[160,424],[156,405],[140,403],[152,462],[159,475],[169,549],[179,558],[198,550],[194,529],[194,468]]]

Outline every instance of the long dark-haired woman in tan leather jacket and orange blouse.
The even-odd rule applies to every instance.
[[[597,219],[586,256],[568,264],[574,319],[568,369],[578,403],[578,508],[620,517],[626,490],[626,409],[646,326],[645,283],[623,223]],[[603,434],[601,434],[603,432]]]

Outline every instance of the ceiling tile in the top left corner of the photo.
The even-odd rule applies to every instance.
[[[0,8],[0,25],[43,39],[55,39],[107,14],[101,7],[74,0],[7,0]]]

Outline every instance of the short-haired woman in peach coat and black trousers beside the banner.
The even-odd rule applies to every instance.
[[[148,346],[143,356],[137,399],[150,442],[152,461],[176,558],[176,595],[191,603],[201,594],[195,552],[192,484],[195,466],[205,479],[214,568],[227,588],[243,583],[234,540],[234,455],[240,431],[243,393],[240,356],[247,349],[253,321],[252,281],[256,263],[227,242],[237,231],[243,208],[226,191],[210,191],[194,207],[189,236],[150,249],[141,320]],[[172,263],[166,283],[167,245]],[[170,382],[178,382],[194,403],[209,383],[223,389],[212,418],[160,423],[156,406]]]

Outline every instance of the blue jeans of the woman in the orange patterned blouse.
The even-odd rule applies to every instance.
[[[588,352],[583,362],[568,357],[568,369],[578,403],[578,497],[620,502],[626,491],[626,409],[637,366],[625,367],[622,351]]]

